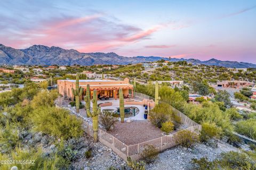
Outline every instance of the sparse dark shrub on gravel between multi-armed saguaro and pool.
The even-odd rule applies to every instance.
[[[103,111],[99,115],[99,120],[102,126],[109,131],[112,127],[114,127],[115,123],[118,122],[118,118],[113,116],[112,112]]]

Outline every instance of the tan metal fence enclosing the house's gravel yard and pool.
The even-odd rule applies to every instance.
[[[153,97],[147,96],[145,94],[141,94],[139,92],[135,92],[135,97],[140,99],[154,99]],[[61,107],[62,106],[63,99],[58,99],[56,102],[56,105]],[[183,129],[181,131],[191,131],[191,132],[199,132],[201,131],[201,125],[197,124],[196,122],[190,120],[189,117],[187,117],[185,114],[181,113],[171,105],[169,105],[173,112],[177,114],[181,118],[181,122],[188,126],[188,128]],[[93,128],[92,124],[87,123],[84,121],[83,123],[84,131],[89,134],[91,137],[93,137]],[[131,157],[132,159],[139,159],[140,154],[145,149],[146,146],[152,145],[159,151],[163,151],[165,149],[169,149],[171,147],[174,147],[178,145],[179,143],[175,142],[175,135],[181,131],[172,133],[170,135],[166,135],[160,138],[156,138],[153,140],[149,140],[146,142],[141,142],[135,145],[127,146],[125,143],[119,141],[116,139],[113,135],[102,131],[101,129],[98,130],[98,139],[103,145],[111,148],[118,156],[120,156],[123,159],[126,159],[127,157]]]

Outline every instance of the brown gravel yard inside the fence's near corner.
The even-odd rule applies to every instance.
[[[126,145],[134,145],[162,137],[162,131],[155,128],[149,121],[118,122],[109,132]]]

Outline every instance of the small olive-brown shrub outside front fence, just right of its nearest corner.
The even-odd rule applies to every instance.
[[[141,160],[145,161],[146,163],[153,162],[158,157],[158,150],[152,146],[147,145],[140,153]]]

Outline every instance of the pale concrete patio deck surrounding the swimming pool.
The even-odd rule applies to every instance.
[[[101,104],[101,103],[107,103],[107,102],[111,102],[112,106],[101,107],[101,111],[102,111],[102,109],[114,109],[116,111],[117,107],[119,107],[119,99],[117,99],[117,100],[115,100],[115,99],[98,100],[97,103]],[[84,103],[84,101],[83,101],[83,103]],[[91,106],[92,106],[92,102],[91,102]],[[145,107],[143,107],[141,105],[124,105],[124,107],[137,107],[139,109],[139,113],[136,116],[124,118],[124,121],[127,121],[129,119],[130,120],[138,120],[138,121],[147,121],[144,119]]]

